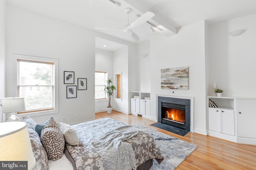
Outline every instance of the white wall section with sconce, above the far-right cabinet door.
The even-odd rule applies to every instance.
[[[228,31],[246,29],[228,37],[228,94],[256,97],[256,14],[230,20]]]

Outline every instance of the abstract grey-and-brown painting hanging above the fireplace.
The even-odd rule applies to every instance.
[[[161,69],[162,89],[188,89],[188,66]]]

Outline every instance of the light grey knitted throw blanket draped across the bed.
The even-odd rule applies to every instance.
[[[104,168],[106,170],[136,170],[134,150],[131,145],[123,141],[142,133],[147,132],[127,125],[109,131],[98,141],[93,141],[93,147],[104,160]]]

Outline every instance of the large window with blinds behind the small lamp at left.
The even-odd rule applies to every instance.
[[[17,96],[25,99],[22,113],[58,112],[57,65],[58,60],[16,55]]]

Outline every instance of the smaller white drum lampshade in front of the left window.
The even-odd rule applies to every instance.
[[[3,113],[24,111],[24,98],[2,98],[2,109]]]

